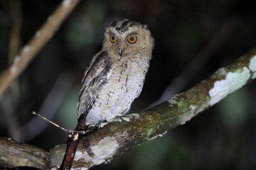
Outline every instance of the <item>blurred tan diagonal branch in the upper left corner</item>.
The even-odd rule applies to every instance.
[[[79,0],[63,0],[61,5],[48,17],[30,42],[20,50],[18,56],[15,56],[12,65],[0,75],[0,96],[11,85],[13,80],[26,69],[42,46],[51,39],[78,2]]]

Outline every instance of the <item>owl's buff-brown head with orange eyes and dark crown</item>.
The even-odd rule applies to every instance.
[[[120,57],[151,58],[154,47],[148,26],[129,19],[119,19],[110,22],[104,33],[104,50],[113,52]]]

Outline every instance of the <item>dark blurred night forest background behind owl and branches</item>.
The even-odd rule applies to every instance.
[[[10,2],[18,3],[0,1],[0,71],[8,65]],[[21,10],[20,47],[60,2],[21,1],[14,7]],[[120,17],[148,24],[156,42],[146,83],[131,112],[193,87],[256,46],[253,1],[81,1],[1,97],[0,136],[45,150],[63,144],[67,134],[31,112],[75,128],[84,69],[100,50],[108,22]],[[255,85],[252,81],[162,138],[93,169],[255,169]]]

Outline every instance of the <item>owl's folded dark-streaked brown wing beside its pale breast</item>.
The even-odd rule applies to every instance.
[[[77,103],[77,118],[90,112],[98,93],[110,77],[110,60],[107,56],[107,51],[96,54],[84,73]]]

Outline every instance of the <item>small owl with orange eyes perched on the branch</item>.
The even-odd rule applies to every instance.
[[[103,47],[84,73],[77,104],[78,118],[95,126],[126,114],[145,81],[154,39],[146,25],[121,19],[111,22]]]

